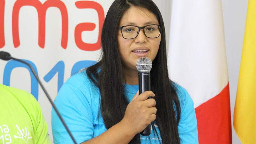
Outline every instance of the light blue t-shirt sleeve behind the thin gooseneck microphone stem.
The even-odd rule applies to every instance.
[[[73,84],[63,84],[54,103],[77,143],[92,139],[94,118],[91,94],[87,86],[78,88]],[[52,133],[54,144],[73,144],[54,109]]]

